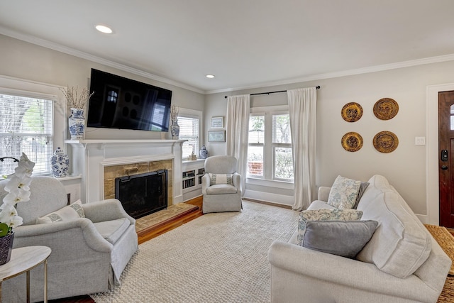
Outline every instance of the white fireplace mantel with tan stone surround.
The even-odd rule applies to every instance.
[[[183,142],[155,139],[65,141],[71,146],[72,171],[81,176],[82,202],[111,198],[114,177],[167,169],[168,205],[183,202]]]

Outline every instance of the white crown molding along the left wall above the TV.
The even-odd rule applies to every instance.
[[[79,57],[79,58],[82,58],[82,59],[85,59],[85,60],[93,61],[93,62],[99,63],[101,65],[114,67],[117,70],[123,70],[123,72],[130,72],[133,75],[138,75],[138,76],[142,76],[142,77],[145,77],[145,78],[148,78],[148,79],[153,79],[155,81],[159,81],[159,82],[175,85],[176,87],[180,87],[182,89],[188,89],[188,90],[190,90],[192,92],[197,92],[199,94],[206,94],[206,92],[204,90],[202,90],[202,89],[198,89],[196,87],[192,87],[190,85],[187,85],[187,84],[184,84],[184,83],[181,83],[181,82],[177,82],[177,81],[172,80],[172,79],[167,79],[165,77],[160,77],[160,76],[157,76],[157,75],[153,75],[150,72],[144,72],[143,70],[138,70],[138,69],[136,69],[134,67],[129,67],[127,65],[123,65],[123,64],[118,63],[118,62],[114,62],[114,61],[111,61],[111,60],[104,59],[102,57],[91,55],[89,53],[85,53],[85,52],[82,52],[80,50],[74,50],[73,48],[68,48],[68,47],[60,45],[58,43],[50,42],[49,40],[37,38],[37,37],[35,37],[33,35],[26,35],[26,34],[23,34],[23,33],[18,33],[17,31],[12,31],[11,29],[5,28],[3,26],[0,26],[0,34],[7,35],[7,36],[9,36],[11,38],[15,38],[15,39],[18,39],[18,40],[23,40],[23,41],[26,41],[28,43],[32,43],[32,44],[35,44],[35,45],[39,45],[39,46],[42,46],[43,48],[49,48],[51,50],[56,50],[57,52],[60,52],[60,53],[65,53],[67,55],[72,55],[74,57]]]

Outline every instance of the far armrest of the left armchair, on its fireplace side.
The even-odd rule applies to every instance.
[[[111,221],[121,218],[127,218],[131,224],[135,224],[135,219],[129,216],[123,209],[123,205],[118,199],[106,199],[97,202],[82,204],[85,216],[92,222]]]

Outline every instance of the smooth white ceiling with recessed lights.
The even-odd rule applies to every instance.
[[[454,1],[5,0],[0,33],[212,93],[454,60]]]

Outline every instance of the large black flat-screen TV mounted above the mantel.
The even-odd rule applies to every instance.
[[[92,69],[87,126],[168,131],[172,91]]]

